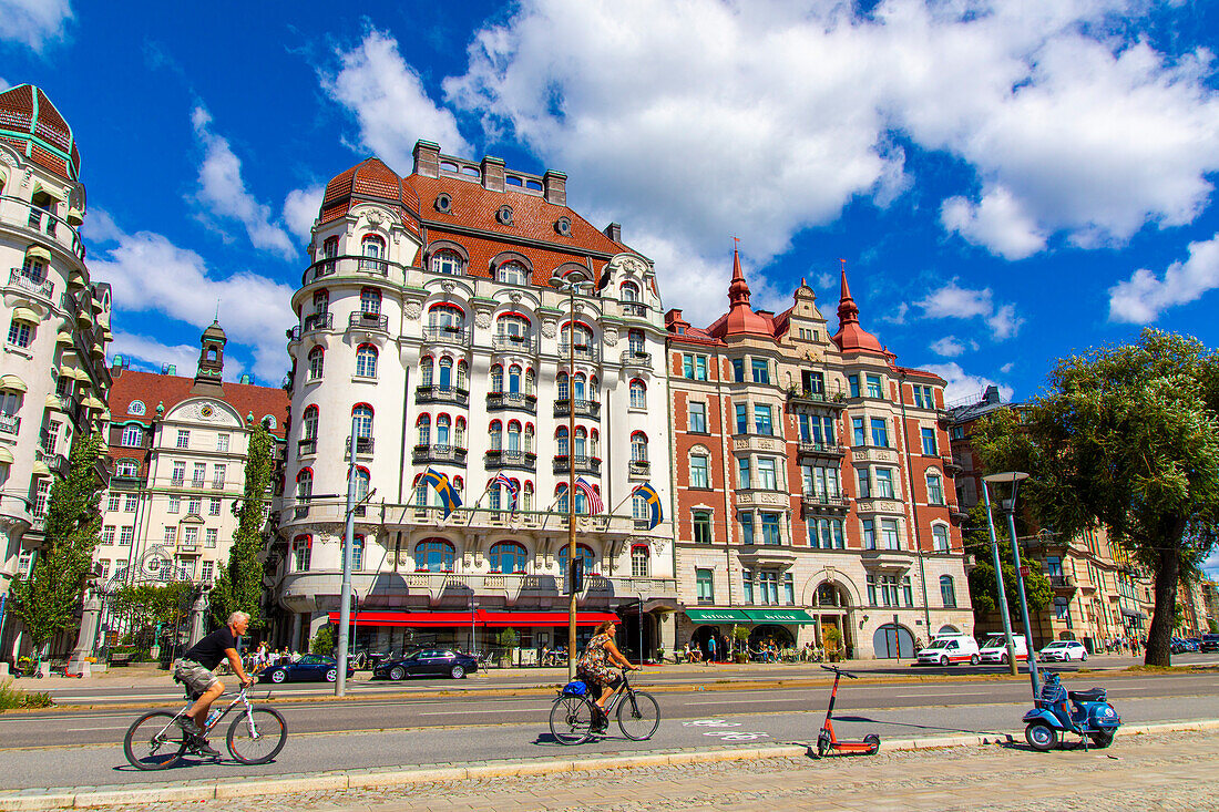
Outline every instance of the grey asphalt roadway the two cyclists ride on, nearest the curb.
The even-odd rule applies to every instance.
[[[1096,675],[1069,688],[1109,689],[1126,723],[1219,718],[1219,674]],[[1076,682],[1079,684],[1076,684]],[[645,685],[646,688],[646,685]],[[0,774],[10,788],[123,784],[146,780],[241,778],[369,767],[466,763],[495,758],[555,758],[597,752],[705,747],[816,739],[829,697],[825,686],[774,690],[657,691],[663,721],[650,741],[633,743],[617,728],[575,749],[551,740],[545,695],[356,699],[283,703],[288,746],[272,764],[190,760],[169,773],[139,773],[117,744],[137,711],[4,714]],[[879,733],[918,738],[951,733],[1012,732],[1029,705],[1024,682],[853,684],[839,691],[840,738]],[[217,745],[221,743],[216,739]]]

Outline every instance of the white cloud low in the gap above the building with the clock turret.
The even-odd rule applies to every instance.
[[[201,256],[161,234],[127,234],[104,211],[91,212],[89,219],[89,235],[98,240],[89,271],[111,284],[118,308],[116,328],[127,313],[157,312],[202,330],[218,305],[229,340],[252,349],[258,378],[278,382],[283,377],[289,366],[283,330],[296,321],[290,285],[249,271],[219,278]],[[128,341],[138,346],[132,337]]]

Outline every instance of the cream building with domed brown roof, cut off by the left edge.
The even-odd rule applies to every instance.
[[[43,544],[72,443],[110,415],[110,285],[89,282],[72,128],[40,89],[0,93],[0,658],[23,654],[9,585]],[[96,472],[106,475],[99,461]],[[71,643],[71,641],[69,641]]]

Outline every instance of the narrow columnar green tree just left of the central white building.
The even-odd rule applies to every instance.
[[[222,625],[233,612],[250,616],[250,627],[261,628],[262,563],[258,554],[266,544],[267,489],[271,486],[274,438],[258,423],[250,433],[245,461],[245,495],[234,507],[238,528],[233,535],[228,563],[221,568],[211,591],[211,614]]]

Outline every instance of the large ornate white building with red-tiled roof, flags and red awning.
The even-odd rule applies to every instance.
[[[649,529],[631,496],[651,483],[669,502],[663,311],[618,226],[572,211],[560,172],[419,141],[407,177],[368,158],[330,180],[310,250],[289,333],[280,640],[305,646],[338,617],[355,430],[357,649],[482,647],[508,627],[524,649],[564,641],[568,454],[605,506],[588,516],[577,493],[581,629],[619,612],[628,647],[640,617],[646,649],[672,645],[668,511]],[[418,483],[429,468],[463,502],[447,517]]]

